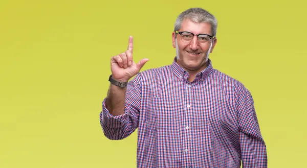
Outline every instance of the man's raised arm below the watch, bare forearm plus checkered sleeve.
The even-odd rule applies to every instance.
[[[109,86],[100,113],[100,124],[107,138],[123,139],[137,129],[140,88],[136,83],[130,81],[126,88]]]

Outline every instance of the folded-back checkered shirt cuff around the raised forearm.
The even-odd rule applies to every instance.
[[[127,118],[127,113],[113,116],[109,113],[105,106],[106,98],[102,102],[102,111],[100,113],[100,124],[108,128],[122,128],[125,126],[125,120]]]

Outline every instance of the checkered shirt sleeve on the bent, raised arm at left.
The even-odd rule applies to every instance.
[[[102,102],[100,125],[108,139],[120,140],[132,134],[139,125],[141,89],[138,75],[127,84],[124,114],[113,116],[105,106],[106,98]]]

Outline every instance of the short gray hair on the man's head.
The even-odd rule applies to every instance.
[[[184,19],[190,19],[196,23],[209,22],[211,25],[211,33],[213,36],[216,36],[217,20],[208,11],[202,8],[190,8],[183,11],[176,19],[174,31],[181,29],[182,21]]]

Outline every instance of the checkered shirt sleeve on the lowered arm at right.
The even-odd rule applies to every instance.
[[[250,91],[238,107],[238,126],[243,168],[267,167],[267,149],[261,136]]]

